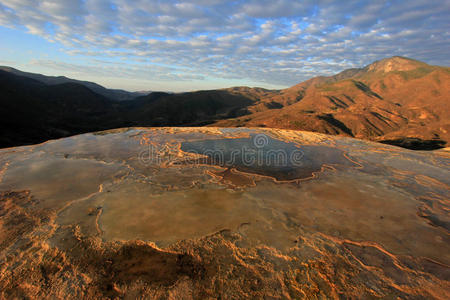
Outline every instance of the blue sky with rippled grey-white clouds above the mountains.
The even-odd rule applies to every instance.
[[[449,54],[450,0],[0,0],[0,65],[131,91],[279,89]]]

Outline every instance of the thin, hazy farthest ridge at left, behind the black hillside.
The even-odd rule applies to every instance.
[[[12,73],[14,75],[31,78],[31,79],[40,81],[42,83],[45,83],[47,85],[58,85],[58,84],[63,84],[63,83],[78,83],[78,84],[84,85],[85,87],[91,89],[92,91],[96,92],[97,94],[100,94],[106,98],[109,98],[112,100],[117,100],[117,101],[132,100],[136,97],[150,93],[147,91],[128,92],[128,91],[119,90],[119,89],[107,89],[97,83],[90,82],[90,81],[81,81],[81,80],[67,78],[65,76],[45,76],[42,74],[22,72],[22,71],[19,71],[17,69],[7,67],[7,66],[0,66],[0,70]]]

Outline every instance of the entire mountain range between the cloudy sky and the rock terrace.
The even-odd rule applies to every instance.
[[[412,149],[440,148],[450,140],[450,68],[404,57],[284,90],[143,96],[9,67],[0,67],[0,89],[1,147],[128,126],[287,128]]]

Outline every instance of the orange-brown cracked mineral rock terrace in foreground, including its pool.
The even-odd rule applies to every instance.
[[[0,298],[449,299],[450,152],[127,128],[0,150]]]

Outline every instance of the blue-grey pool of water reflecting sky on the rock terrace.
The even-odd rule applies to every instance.
[[[308,178],[323,165],[356,166],[342,150],[327,146],[298,146],[267,135],[251,138],[183,142],[181,150],[208,156],[205,163],[234,167],[277,180]]]

